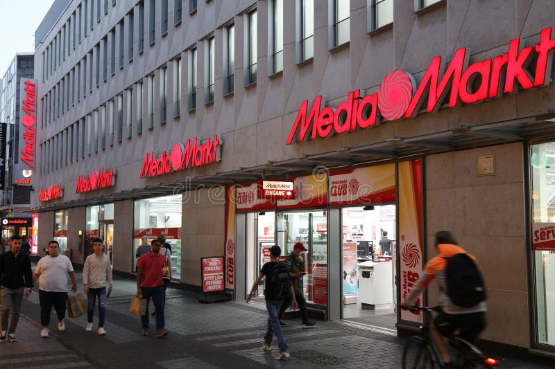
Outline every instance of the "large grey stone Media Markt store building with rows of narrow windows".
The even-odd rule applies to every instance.
[[[176,281],[223,256],[237,299],[303,242],[314,312],[403,330],[448,229],[484,269],[482,337],[552,354],[549,5],[71,1],[35,51],[38,241],[82,263],[101,237],[133,273],[165,235]]]

